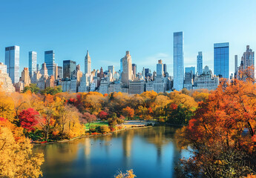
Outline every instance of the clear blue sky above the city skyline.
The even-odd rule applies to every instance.
[[[203,51],[203,66],[213,70],[213,46],[230,44],[230,72],[249,44],[256,49],[255,0],[54,0],[0,1],[0,62],[4,47],[19,45],[20,67],[28,66],[28,51],[54,50],[56,63],[66,59],[84,71],[86,50],[92,68],[107,69],[130,50],[137,71],[156,70],[158,59],[173,76],[173,33],[184,32],[185,67],[196,66]]]

